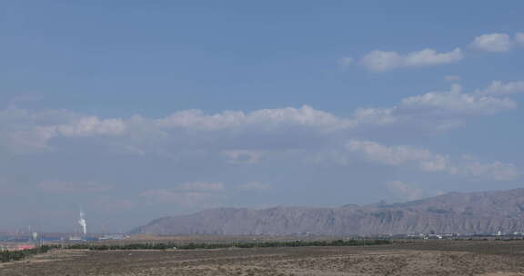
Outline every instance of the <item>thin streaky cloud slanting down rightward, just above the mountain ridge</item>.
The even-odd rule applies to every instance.
[[[459,174],[496,181],[515,180],[520,175],[512,163],[484,163],[472,157],[452,159],[448,155],[407,145],[387,146],[373,141],[350,140],[346,147],[348,151],[361,153],[374,163],[413,165],[424,172]]]

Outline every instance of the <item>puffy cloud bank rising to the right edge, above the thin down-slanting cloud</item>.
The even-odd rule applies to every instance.
[[[409,128],[431,126],[434,131],[448,131],[463,125],[470,116],[492,115],[517,108],[504,94],[514,94],[519,82],[497,83],[467,94],[459,84],[449,91],[429,92],[404,98],[398,105],[385,108],[358,108],[352,116],[357,127],[408,125]]]

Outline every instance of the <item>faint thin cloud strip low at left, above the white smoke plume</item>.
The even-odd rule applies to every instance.
[[[100,182],[39,182],[36,187],[45,192],[55,193],[84,193],[84,192],[106,192],[113,190],[114,186]]]

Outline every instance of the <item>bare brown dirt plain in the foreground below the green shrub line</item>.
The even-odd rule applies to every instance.
[[[426,241],[364,247],[52,251],[0,264],[2,276],[524,275],[524,242]]]

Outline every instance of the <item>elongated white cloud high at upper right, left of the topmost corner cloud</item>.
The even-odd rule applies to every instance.
[[[422,67],[438,64],[453,64],[462,59],[460,48],[448,53],[438,53],[433,49],[424,49],[408,54],[398,54],[397,52],[372,51],[366,54],[361,63],[368,70],[384,72],[401,67]]]

